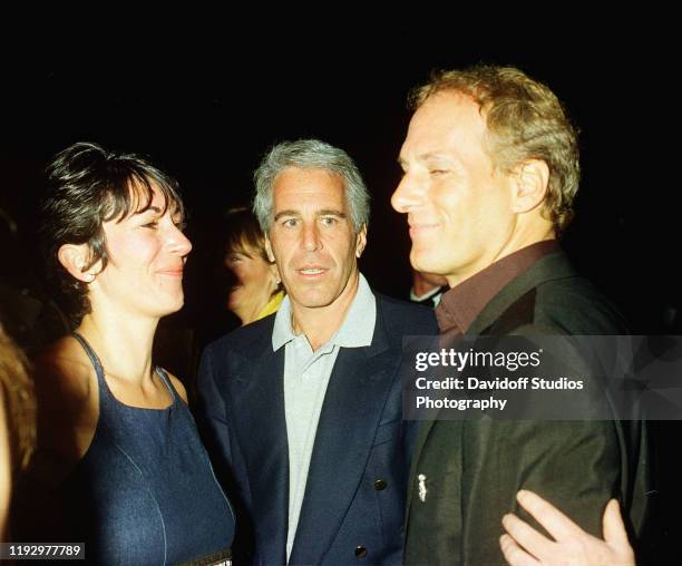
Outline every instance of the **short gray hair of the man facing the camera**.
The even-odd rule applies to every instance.
[[[282,142],[275,145],[263,157],[261,165],[253,175],[255,182],[253,213],[265,234],[270,233],[274,221],[273,189],[275,178],[289,167],[324,169],[339,175],[343,179],[344,198],[355,232],[360,232],[363,224],[369,224],[369,193],[351,157],[343,149],[319,139],[299,139],[298,142]]]

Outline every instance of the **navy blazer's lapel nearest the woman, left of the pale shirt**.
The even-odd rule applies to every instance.
[[[251,360],[235,382],[233,410],[241,423],[240,439],[246,463],[252,513],[257,518],[259,555],[265,563],[286,562],[289,521],[289,445],[284,416],[284,349],[265,348]]]

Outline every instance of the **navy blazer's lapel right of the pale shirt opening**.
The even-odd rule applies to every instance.
[[[311,457],[292,564],[321,564],[358,490],[399,355],[377,316],[372,345],[342,348],[330,377]]]

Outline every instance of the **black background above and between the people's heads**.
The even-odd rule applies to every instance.
[[[2,56],[0,207],[19,231],[1,273],[39,271],[35,213],[55,153],[78,140],[140,153],[179,180],[189,212],[186,306],[170,323],[220,334],[234,323],[216,315],[224,211],[250,199],[252,172],[272,144],[319,137],[349,152],[372,194],[362,271],[376,289],[405,297],[409,238],[389,197],[407,92],[435,68],[509,64],[546,82],[582,131],[577,215],[564,241],[572,260],[635,333],[680,333],[678,32],[664,14],[652,22],[631,13],[625,28],[611,14],[569,29],[546,14],[542,25],[509,25],[505,36],[485,13],[439,29],[436,11],[426,26],[409,11],[399,26],[335,16],[267,29],[257,17],[247,29],[210,17],[172,29],[131,18],[106,33],[91,25],[58,29],[40,45],[21,37]],[[664,536],[656,553],[668,560],[679,556],[670,549],[680,524],[679,427],[653,430],[654,498],[663,502],[655,530]]]

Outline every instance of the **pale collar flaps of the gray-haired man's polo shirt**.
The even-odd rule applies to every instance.
[[[328,343],[341,348],[362,348],[372,343],[377,322],[377,301],[369,283],[360,273],[358,292],[353,297],[341,326]],[[279,350],[296,338],[291,324],[291,301],[284,297],[275,315],[272,331],[272,349]]]

